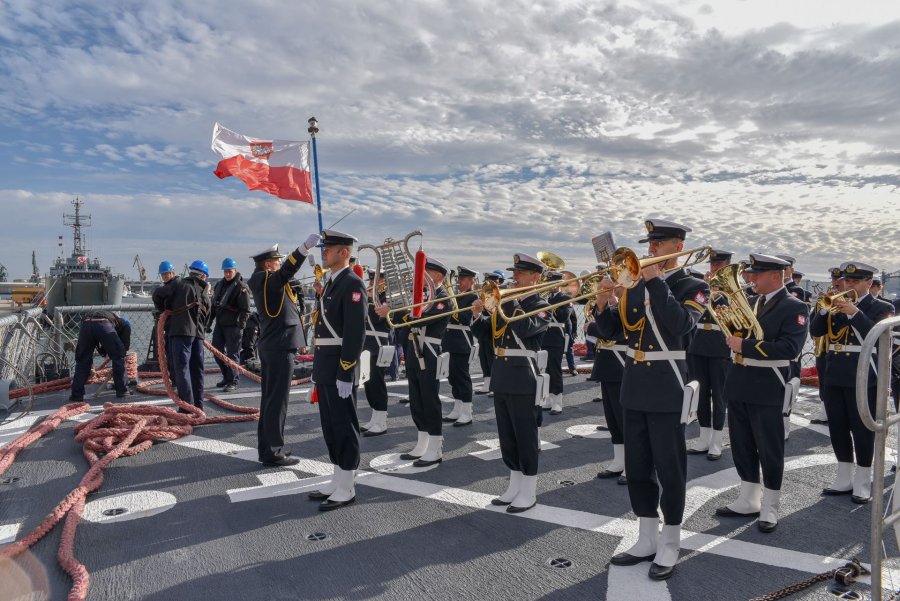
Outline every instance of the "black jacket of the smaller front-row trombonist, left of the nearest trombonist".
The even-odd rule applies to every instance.
[[[503,312],[509,316],[546,308],[549,304],[537,294],[521,300],[503,303]],[[541,350],[541,339],[547,332],[550,312],[540,311],[526,319],[507,322],[500,315],[484,313],[472,322],[472,331],[481,335],[485,331],[494,341],[494,364],[491,366],[491,392],[500,394],[534,395],[537,383],[537,359],[506,356],[507,349],[522,349],[516,336],[522,341],[524,350],[537,353]],[[515,336],[513,335],[515,334]]]

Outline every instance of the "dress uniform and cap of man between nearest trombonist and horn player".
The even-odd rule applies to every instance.
[[[714,250],[709,257],[710,265],[727,265],[732,254]],[[688,454],[705,454],[707,459],[715,461],[722,456],[726,407],[725,372],[731,362],[731,351],[712,315],[715,307],[728,305],[728,299],[725,295],[719,295],[710,302],[711,306],[707,305],[707,310],[700,316],[697,332],[688,347],[688,374],[691,380],[697,381],[697,421],[700,422],[700,438],[688,449]]]

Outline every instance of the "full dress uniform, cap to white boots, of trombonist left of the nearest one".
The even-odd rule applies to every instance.
[[[513,256],[511,271],[541,273],[544,264],[519,253]],[[487,331],[494,341],[491,391],[503,463],[510,470],[509,486],[492,499],[493,505],[507,506],[509,513],[527,511],[537,503],[537,470],[540,441],[538,427],[541,400],[538,398],[538,351],[550,323],[547,301],[538,294],[503,303],[503,312],[512,316],[537,311],[531,317],[507,322],[498,312],[481,314],[472,323],[476,333]]]

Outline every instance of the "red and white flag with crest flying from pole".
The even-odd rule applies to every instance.
[[[215,174],[233,175],[250,190],[262,190],[286,200],[313,201],[309,142],[248,138],[216,123],[212,149],[222,160]]]

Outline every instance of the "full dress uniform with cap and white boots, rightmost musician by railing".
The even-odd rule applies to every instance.
[[[831,313],[819,310],[812,318],[810,334],[825,336],[824,378],[820,380],[831,446],[838,460],[837,478],[824,495],[851,495],[854,503],[871,500],[872,457],[875,452],[875,433],[863,425],[856,408],[856,368],[860,360],[869,363],[869,411],[875,414],[877,355],[860,357],[860,345],[872,327],[894,314],[891,303],[873,297],[868,292],[876,269],[859,261],[841,265],[842,287],[861,290],[856,312],[848,316],[842,311]],[[821,376],[820,376],[821,377]],[[853,471],[854,451],[856,473]]]

